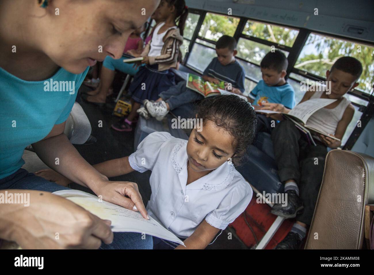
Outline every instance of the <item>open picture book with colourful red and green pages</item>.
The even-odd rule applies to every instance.
[[[198,92],[203,97],[210,97],[212,95],[220,95],[219,89],[225,90],[225,82],[221,81],[218,84],[204,81],[202,77],[196,76],[195,74],[188,74],[186,87]]]

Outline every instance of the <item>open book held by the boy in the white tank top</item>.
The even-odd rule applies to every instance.
[[[334,140],[340,141],[340,139],[332,137],[321,129],[317,129],[307,125],[307,120],[312,114],[335,101],[336,99],[313,98],[296,105],[294,109],[289,111],[289,113],[287,114],[270,110],[256,110],[256,112],[265,114],[282,114],[285,118],[294,122],[297,128],[307,135],[310,142],[316,145],[310,132],[312,132],[313,134],[322,134]]]

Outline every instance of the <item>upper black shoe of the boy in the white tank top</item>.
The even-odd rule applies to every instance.
[[[301,212],[300,210],[304,207],[295,190],[287,190],[285,193],[287,194],[287,205],[282,206],[282,203],[274,204],[270,212],[274,215],[285,217],[286,219],[292,219],[296,217],[297,213]]]

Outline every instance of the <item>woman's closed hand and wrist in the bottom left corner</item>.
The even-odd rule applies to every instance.
[[[20,190],[7,190],[18,193]],[[30,193],[30,205],[3,204],[0,211],[1,237],[24,249],[97,249],[110,244],[111,221],[102,220],[77,204],[48,192]],[[5,230],[3,230],[5,228]]]

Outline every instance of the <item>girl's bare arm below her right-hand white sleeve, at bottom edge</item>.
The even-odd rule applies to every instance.
[[[184,241],[186,247],[178,245],[175,249],[204,249],[219,231],[220,229],[211,226],[206,220],[203,220],[197,226],[195,232]]]

